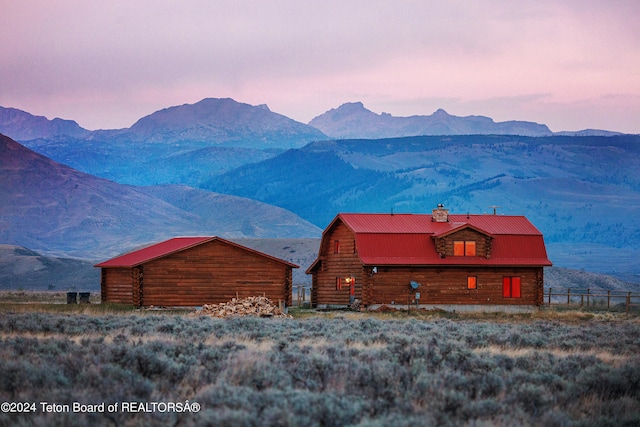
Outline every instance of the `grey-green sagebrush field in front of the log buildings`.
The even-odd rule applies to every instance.
[[[37,411],[1,413],[0,425],[640,424],[637,317],[294,314],[5,307],[0,402]],[[187,400],[199,412],[52,413],[40,403]]]

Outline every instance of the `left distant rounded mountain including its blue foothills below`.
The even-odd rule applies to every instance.
[[[327,139],[266,105],[232,99],[166,108],[127,129],[87,131],[76,124],[54,134],[44,118],[10,120],[17,113],[8,110],[14,111],[0,107],[0,133],[67,166],[131,185],[196,185],[212,173]]]

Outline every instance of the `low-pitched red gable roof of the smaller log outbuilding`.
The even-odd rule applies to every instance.
[[[123,255],[119,255],[115,258],[108,259],[106,261],[101,262],[100,264],[96,264],[94,267],[101,268],[109,268],[109,267],[136,267],[141,264],[145,264],[147,262],[166,257],[168,255],[174,254],[176,252],[184,251],[189,248],[193,248],[195,246],[201,245],[203,243],[219,241],[221,243],[248,251],[253,252],[257,255],[260,255],[264,258],[271,259],[276,262],[280,262],[282,264],[288,265],[292,268],[299,268],[300,266],[285,261],[280,258],[273,257],[271,255],[265,254],[264,252],[259,252],[254,249],[248,248],[246,246],[239,245],[237,243],[231,242],[229,240],[222,239],[217,236],[209,236],[209,237],[174,237],[169,240],[165,240],[163,242],[155,243],[150,246],[146,246],[142,249],[138,249],[132,252],[125,253]]]

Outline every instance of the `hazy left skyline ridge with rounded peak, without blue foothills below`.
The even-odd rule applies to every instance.
[[[90,131],[75,121],[48,120],[15,108],[0,107],[0,133],[25,142],[55,137],[108,142],[175,144],[244,148],[301,147],[326,139],[320,130],[232,98],[204,98],[194,104],[166,107],[138,119],[129,128]]]

